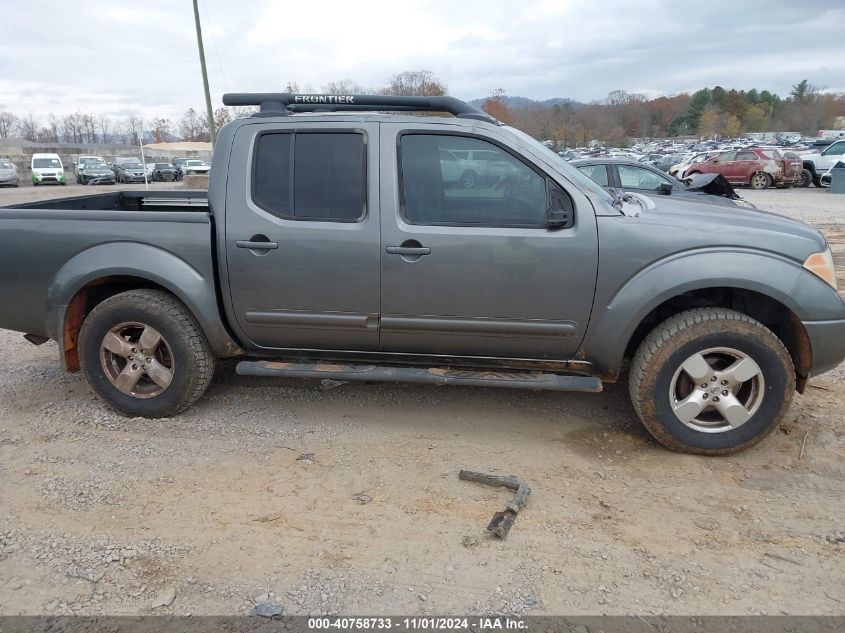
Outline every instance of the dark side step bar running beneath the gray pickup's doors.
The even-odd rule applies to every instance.
[[[443,369],[440,367],[391,367],[381,365],[341,365],[336,363],[285,363],[248,361],[238,363],[241,376],[279,378],[328,378],[330,380],[371,380],[373,382],[415,382],[471,387],[506,387],[543,391],[602,390],[600,378],[527,371]]]

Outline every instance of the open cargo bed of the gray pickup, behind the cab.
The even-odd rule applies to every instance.
[[[205,191],[123,191],[0,208],[0,328],[55,339],[76,290],[141,278],[216,320]],[[210,307],[209,307],[210,306]]]

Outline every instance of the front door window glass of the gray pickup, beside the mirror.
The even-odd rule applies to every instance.
[[[405,220],[411,224],[545,227],[545,178],[494,145],[445,134],[400,137]]]

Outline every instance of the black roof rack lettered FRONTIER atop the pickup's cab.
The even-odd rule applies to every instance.
[[[475,106],[455,97],[395,97],[390,95],[324,95],[289,92],[234,92],[223,95],[228,106],[259,106],[255,116],[278,116],[289,112],[446,112],[464,119],[498,121]]]

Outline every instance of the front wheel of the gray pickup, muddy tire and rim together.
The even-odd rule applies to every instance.
[[[757,370],[751,378],[739,380],[742,374],[726,371],[748,359],[746,375]],[[723,384],[730,376],[737,382]],[[629,391],[640,420],[667,448],[728,455],[780,425],[795,393],[795,368],[780,339],[758,321],[734,310],[698,308],[667,319],[643,340],[631,364]],[[734,405],[733,422],[722,414],[728,404]]]

